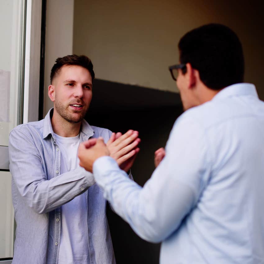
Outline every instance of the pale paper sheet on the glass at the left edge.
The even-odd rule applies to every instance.
[[[0,122],[9,122],[10,71],[0,70]]]

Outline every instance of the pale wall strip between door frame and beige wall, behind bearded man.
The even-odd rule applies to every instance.
[[[50,71],[58,57],[72,54],[74,0],[47,0],[44,116],[53,107],[48,97]]]

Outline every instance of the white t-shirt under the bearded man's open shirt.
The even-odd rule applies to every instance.
[[[80,134],[72,138],[56,135],[61,151],[61,174],[79,166]],[[86,191],[87,192],[87,191]],[[85,192],[85,193],[86,193]],[[85,193],[61,206],[61,238],[58,264],[88,264],[87,200]]]

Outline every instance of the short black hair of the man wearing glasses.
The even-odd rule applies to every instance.
[[[220,24],[186,33],[179,42],[180,63],[190,63],[201,81],[214,90],[244,81],[244,56],[237,35]],[[184,73],[184,72],[183,72]]]

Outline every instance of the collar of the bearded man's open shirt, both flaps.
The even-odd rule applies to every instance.
[[[43,139],[45,139],[49,134],[51,134],[52,138],[55,139],[55,133],[54,133],[54,131],[52,129],[52,125],[51,125],[52,115],[53,115],[53,108],[51,108],[48,111],[48,114],[44,118]],[[93,134],[94,134],[93,128],[84,119],[83,119],[82,125],[81,125],[81,132],[83,132],[84,135],[87,135],[89,137],[93,136]]]

